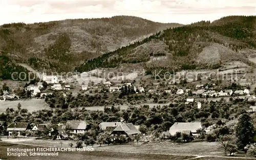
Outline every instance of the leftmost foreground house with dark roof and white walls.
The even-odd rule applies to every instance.
[[[32,129],[29,123],[19,122],[19,123],[11,123],[7,126],[7,131],[9,132],[9,136],[12,136],[13,132],[17,132],[17,136],[20,136],[20,131],[26,131]]]

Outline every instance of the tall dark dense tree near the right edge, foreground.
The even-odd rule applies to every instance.
[[[252,118],[248,114],[243,114],[238,119],[236,127],[236,137],[238,138],[239,149],[243,149],[253,141],[254,127]]]

